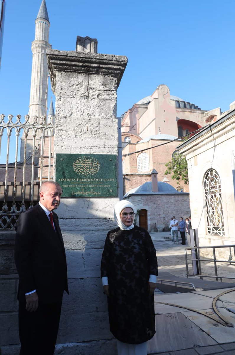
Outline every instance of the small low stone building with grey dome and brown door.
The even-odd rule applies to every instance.
[[[131,189],[124,199],[136,208],[136,223],[150,232],[169,230],[174,215],[178,220],[190,215],[189,193],[177,191],[166,182],[157,181],[157,171],[151,171],[151,181]]]

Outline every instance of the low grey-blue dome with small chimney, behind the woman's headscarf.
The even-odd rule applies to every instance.
[[[185,192],[180,192],[177,191],[173,186],[170,184],[166,184],[166,182],[158,181],[157,183],[158,186],[158,192],[153,192],[152,191],[152,182],[147,181],[144,184],[135,187],[134,189],[128,191],[123,197],[128,197],[130,195],[158,195],[158,194],[167,194],[167,193],[174,193],[174,194],[179,194],[179,193],[185,193]]]

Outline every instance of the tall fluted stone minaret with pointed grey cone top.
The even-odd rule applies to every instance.
[[[29,116],[31,118],[46,115],[47,59],[46,49],[49,44],[49,17],[45,0],[42,0],[38,16],[35,20],[35,38],[32,42],[32,75],[30,87]]]

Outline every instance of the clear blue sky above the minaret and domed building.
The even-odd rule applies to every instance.
[[[5,115],[28,113],[30,47],[40,4],[6,0],[0,72]],[[97,38],[98,53],[128,57],[118,116],[159,84],[201,109],[225,111],[235,100],[234,1],[46,0],[46,5],[53,49],[74,50],[76,36],[88,35]]]

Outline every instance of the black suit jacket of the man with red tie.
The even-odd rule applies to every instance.
[[[63,291],[68,293],[65,247],[55,212],[53,221],[56,232],[39,204],[19,216],[15,242],[19,301],[33,290],[41,304],[60,302]]]

